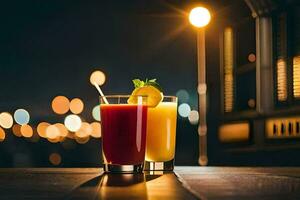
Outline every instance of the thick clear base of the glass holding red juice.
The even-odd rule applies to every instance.
[[[104,171],[107,173],[143,173],[143,164],[138,165],[113,165],[113,164],[104,164]]]

